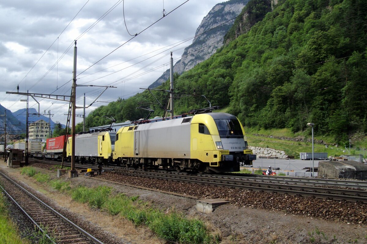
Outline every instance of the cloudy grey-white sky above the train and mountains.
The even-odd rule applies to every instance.
[[[223,0],[185,2],[2,0],[0,104],[12,112],[25,108],[25,102],[19,101],[25,97],[6,94],[16,92],[17,85],[19,92],[70,95],[74,40],[77,40],[77,84],[117,87],[107,89],[98,98],[100,102],[86,109],[87,113],[106,105],[105,102],[140,92],[140,87],[148,87],[167,70],[171,51],[174,60],[181,57],[183,48],[192,43],[186,40],[195,35],[211,8]],[[163,8],[166,16],[160,19]],[[136,33],[139,34],[134,36]],[[88,105],[102,90],[78,87],[77,106],[83,105],[84,93]],[[36,102],[29,99],[29,106],[37,109]],[[67,103],[36,99],[41,113],[51,110],[53,121],[66,123]]]

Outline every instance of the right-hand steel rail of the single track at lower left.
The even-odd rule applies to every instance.
[[[18,183],[16,183],[14,180],[10,179],[3,172],[0,172],[0,174],[1,174],[1,176],[5,177],[7,180],[9,180],[12,184],[14,184],[18,188],[22,189],[23,192],[25,192],[26,194],[28,194],[34,200],[36,200],[37,202],[39,202],[40,204],[42,204],[44,207],[46,207],[46,209],[48,209],[49,211],[51,211],[53,214],[57,215],[57,217],[59,217],[60,219],[62,219],[62,221],[66,222],[67,224],[69,224],[70,226],[72,226],[74,229],[76,229],[77,231],[79,231],[81,234],[83,234],[83,236],[87,237],[89,240],[93,241],[95,244],[103,244],[101,241],[99,241],[98,239],[96,239],[94,236],[92,236],[86,230],[83,230],[78,225],[74,224],[68,218],[66,218],[65,216],[63,216],[62,214],[60,214],[58,211],[54,210],[52,207],[48,206],[46,203],[44,203],[42,200],[40,200],[39,198],[37,198],[36,196],[34,196],[32,193],[30,193],[29,191],[27,191],[25,188],[23,188],[21,185],[19,185]]]

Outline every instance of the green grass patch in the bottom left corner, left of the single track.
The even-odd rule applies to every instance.
[[[0,194],[0,243],[28,244],[29,241],[21,239],[17,227],[11,221],[4,198]]]

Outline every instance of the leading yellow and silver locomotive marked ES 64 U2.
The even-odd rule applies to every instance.
[[[256,155],[248,149],[244,129],[234,115],[203,113],[116,132],[113,161],[125,166],[162,166],[204,172],[234,172]]]

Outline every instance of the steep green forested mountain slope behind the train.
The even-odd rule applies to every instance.
[[[247,5],[254,11],[266,2],[251,0]],[[312,122],[316,134],[334,135],[339,142],[350,132],[366,132],[366,2],[283,0],[270,12],[263,11],[265,17],[245,34],[176,75],[175,92],[195,89],[212,105],[229,105],[229,112],[251,127],[299,131]],[[166,98],[156,94],[161,101]],[[137,119],[144,112],[132,111],[129,105],[136,108],[137,101],[155,100],[144,92],[95,114],[119,106],[119,120]],[[206,106],[202,98],[182,96],[175,101],[175,113]],[[152,108],[162,114],[157,105]]]

